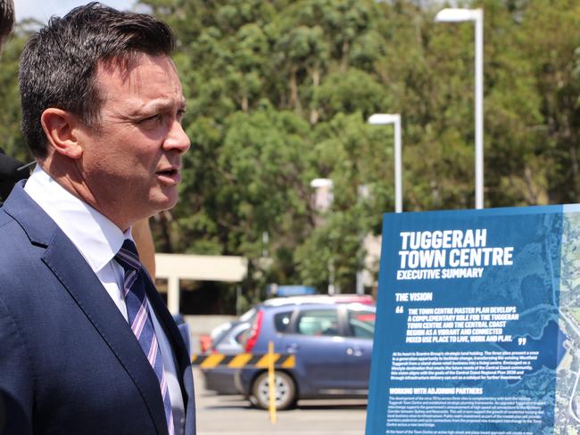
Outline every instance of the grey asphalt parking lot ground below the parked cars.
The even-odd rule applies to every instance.
[[[302,400],[295,409],[278,412],[278,423],[272,424],[268,412],[253,409],[241,396],[216,396],[204,390],[199,370],[194,376],[198,435],[364,433],[366,400]]]

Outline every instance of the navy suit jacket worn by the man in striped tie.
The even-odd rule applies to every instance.
[[[127,321],[22,187],[0,209],[0,433],[166,434],[159,382]],[[186,346],[153,285],[147,297],[174,351],[194,435]]]

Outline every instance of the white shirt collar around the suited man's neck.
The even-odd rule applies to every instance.
[[[69,237],[95,273],[115,257],[126,238],[131,238],[130,228],[123,233],[111,220],[64,189],[39,166],[29,177],[24,191]]]

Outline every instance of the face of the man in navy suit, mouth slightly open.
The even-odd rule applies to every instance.
[[[137,57],[128,70],[100,65],[98,126],[81,129],[79,175],[95,208],[125,229],[178,201],[185,98],[167,56]]]

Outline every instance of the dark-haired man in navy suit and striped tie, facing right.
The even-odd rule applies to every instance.
[[[164,22],[91,3],[24,48],[37,168],[0,209],[0,433],[195,434],[187,350],[131,242],[178,200],[174,45]]]

